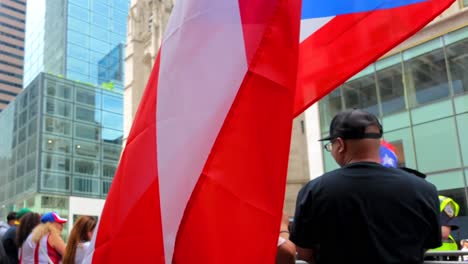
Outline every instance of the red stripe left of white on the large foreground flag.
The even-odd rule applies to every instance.
[[[164,263],[156,162],[159,55],[102,212],[94,263]]]

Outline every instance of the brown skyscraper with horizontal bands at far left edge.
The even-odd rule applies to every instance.
[[[21,92],[26,0],[0,0],[0,112]]]

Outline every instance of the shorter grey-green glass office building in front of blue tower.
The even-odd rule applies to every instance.
[[[41,211],[53,200],[67,215],[67,196],[105,198],[120,158],[121,104],[113,91],[36,77],[0,114],[2,204]]]

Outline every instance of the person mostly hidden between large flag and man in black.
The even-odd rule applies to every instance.
[[[296,246],[289,240],[289,217],[286,213],[283,213],[278,237],[276,264],[294,264],[295,262]]]

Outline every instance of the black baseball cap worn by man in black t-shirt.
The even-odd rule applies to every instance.
[[[369,126],[377,126],[379,133],[366,133]],[[382,125],[377,117],[361,109],[351,109],[338,113],[330,124],[330,135],[319,141],[342,139],[381,138]]]

